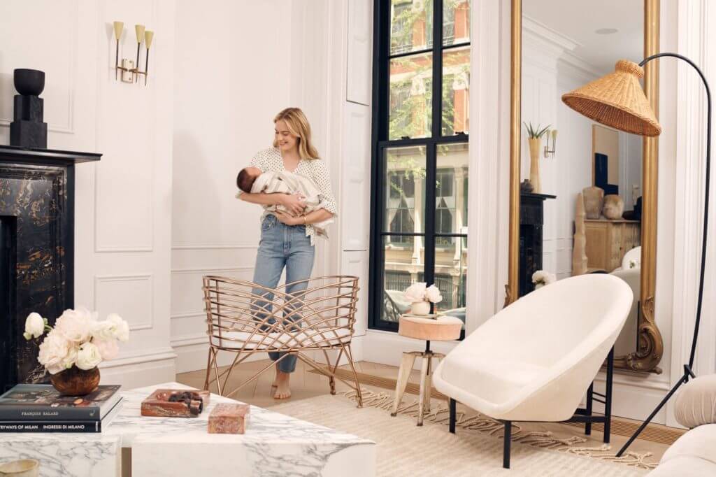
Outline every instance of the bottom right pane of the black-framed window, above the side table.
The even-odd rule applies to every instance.
[[[465,322],[465,284],[468,277],[468,249],[463,237],[439,237],[448,241],[446,247],[435,248],[435,285],[442,302],[438,312],[458,317]]]

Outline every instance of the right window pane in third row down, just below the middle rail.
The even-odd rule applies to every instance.
[[[468,144],[437,146],[435,233],[468,233]],[[435,245],[453,244],[436,237]]]

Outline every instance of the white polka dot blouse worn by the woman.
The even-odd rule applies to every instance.
[[[276,148],[269,148],[258,151],[251,158],[251,166],[261,169],[261,172],[283,172],[284,158],[281,158],[281,152]],[[331,177],[326,168],[326,163],[321,159],[301,159],[294,173],[304,175],[314,181],[321,191],[319,206],[332,212],[334,217],[338,215],[338,206],[336,198],[333,196],[331,188]],[[311,238],[311,244],[314,243],[316,230],[310,223],[306,226],[306,236]]]

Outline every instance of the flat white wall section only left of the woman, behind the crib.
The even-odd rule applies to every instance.
[[[177,3],[171,343],[178,372],[206,363],[201,277],[253,276],[261,211],[234,197],[236,173],[271,146],[271,121],[289,104],[291,9],[281,3]]]

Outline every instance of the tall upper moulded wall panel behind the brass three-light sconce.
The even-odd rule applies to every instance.
[[[142,9],[143,13],[130,15],[135,20],[125,19],[125,32],[120,39],[120,55],[132,58],[132,51],[136,49],[134,42],[134,29],[132,24],[143,22],[147,25],[155,24],[160,26],[160,18],[164,15],[160,11],[160,1],[152,0],[147,2],[146,8]],[[134,10],[133,6],[127,5],[129,12]],[[102,161],[95,167],[95,218],[94,218],[94,242],[95,253],[97,254],[117,254],[117,253],[147,253],[155,251],[155,231],[157,227],[157,218],[155,209],[161,200],[155,196],[158,181],[156,169],[158,161],[162,160],[162,156],[167,153],[166,150],[158,149],[156,135],[160,131],[158,123],[165,120],[162,116],[163,111],[160,110],[160,86],[158,80],[163,78],[163,62],[167,60],[165,54],[170,51],[163,52],[160,44],[153,47],[153,51],[157,50],[155,57],[154,74],[150,76],[147,86],[144,85],[127,85],[123,82],[115,80],[115,40],[111,35],[111,22],[107,21],[107,17],[115,15],[117,11],[122,11],[122,6],[108,2],[107,0],[100,2],[98,9],[97,21],[97,54],[99,67],[97,68],[97,123],[96,138],[97,148],[105,153]],[[110,16],[112,18],[112,16]],[[165,38],[166,41],[166,38]],[[132,46],[133,45],[133,46]],[[142,52],[142,56],[143,56]],[[132,109],[133,107],[133,109]],[[126,137],[126,143],[117,141],[117,133],[121,129],[115,130],[115,127],[107,127],[107,124],[114,123],[113,118],[117,115],[131,117],[129,124],[134,127],[135,123],[143,121],[145,127],[134,127],[133,135]],[[111,119],[110,119],[111,118]],[[146,131],[146,133],[145,133]],[[126,134],[126,132],[125,132]],[[141,135],[139,142],[134,135]],[[132,150],[145,152],[145,163],[126,163],[127,157],[131,157]],[[108,198],[102,190],[103,184],[116,183],[115,177],[107,177],[112,167],[117,167],[117,163],[121,163],[121,168],[132,170],[131,179],[137,178],[147,181],[147,190],[137,188],[135,183],[125,183],[122,193],[132,198],[142,195],[142,205],[135,207],[146,208],[148,213],[142,214],[142,223],[137,220],[128,220],[128,226],[132,227],[134,233],[127,233],[125,237],[117,238],[115,235],[103,230],[102,226],[107,226],[111,221],[115,220],[110,210],[122,210],[125,206],[124,201],[119,197]],[[137,168],[142,168],[142,171]],[[124,169],[122,169],[124,170]],[[128,176],[127,176],[128,177]],[[125,178],[127,178],[125,177]],[[140,184],[142,184],[140,182]],[[143,185],[143,184],[142,184]],[[137,203],[133,204],[137,205]],[[131,206],[131,205],[130,205]],[[105,210],[106,209],[106,210]],[[122,217],[126,218],[126,216]],[[132,217],[134,219],[134,217]],[[146,222],[144,221],[146,219]],[[109,223],[107,221],[110,221]]]

